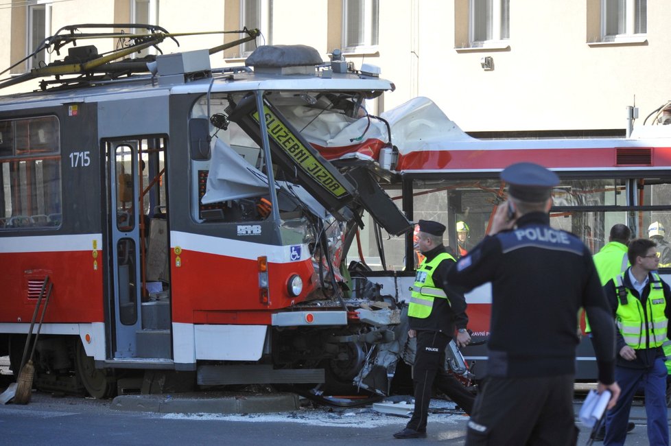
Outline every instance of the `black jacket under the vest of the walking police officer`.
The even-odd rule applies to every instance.
[[[442,244],[436,246],[430,251],[423,253],[425,262],[432,261],[440,253],[447,253]],[[454,265],[454,260],[445,259],[441,261],[432,274],[436,287],[441,287],[446,298],[435,298],[431,309],[431,314],[427,318],[408,317],[410,328],[414,330],[441,331],[447,336],[454,335],[455,327],[457,329],[466,328],[469,318],[466,315],[466,298],[458,290],[454,290],[447,285],[445,275],[447,270]]]

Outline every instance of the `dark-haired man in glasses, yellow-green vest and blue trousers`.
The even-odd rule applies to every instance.
[[[606,416],[604,445],[624,445],[631,402],[639,384],[646,392],[648,442],[668,445],[666,365],[662,344],[668,340],[671,290],[657,274],[657,246],[650,239],[633,240],[631,266],[604,285],[617,326],[615,379],[620,399]]]

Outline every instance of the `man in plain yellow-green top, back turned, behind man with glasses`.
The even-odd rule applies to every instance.
[[[608,281],[622,274],[629,267],[627,257],[627,245],[631,238],[631,229],[626,224],[618,223],[613,225],[608,238],[608,244],[593,255],[596,272],[599,273],[601,285],[606,285]],[[589,319],[585,316],[585,333],[591,338],[591,327]],[[634,430],[635,424],[629,421],[626,432]],[[595,440],[601,441],[606,435],[606,425],[602,425],[600,431],[596,434]]]

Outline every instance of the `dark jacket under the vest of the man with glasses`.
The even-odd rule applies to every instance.
[[[633,295],[635,298],[639,299],[641,301],[641,305],[643,307],[646,307],[646,301],[648,300],[648,296],[650,295],[650,283],[653,281],[652,274],[648,273],[648,284],[646,287],[643,289],[643,294],[639,295],[638,292],[634,289],[633,285],[631,284],[631,278],[629,277],[629,270],[627,269],[626,272],[624,273],[624,277],[622,278],[622,285],[628,289],[631,295]],[[662,285],[662,290],[664,293],[664,298],[666,299],[666,308],[664,309],[664,314],[666,315],[667,319],[671,319],[671,289],[669,288],[669,285],[661,281]],[[606,285],[604,285],[604,291],[606,292],[606,297],[608,298],[608,302],[611,305],[612,309],[612,314],[613,318],[615,318],[615,312],[617,311],[617,305],[619,305],[619,300],[617,297],[617,284],[615,283],[615,280],[609,281]],[[668,329],[667,329],[668,330]],[[622,337],[622,333],[620,333],[620,330],[616,330],[616,338],[615,338],[615,351],[617,352],[616,358],[617,358],[617,366],[618,367],[628,367],[628,368],[650,368],[652,367],[652,364],[655,363],[655,359],[657,357],[663,357],[664,351],[662,347],[653,347],[652,349],[636,349],[636,357],[634,360],[628,361],[625,360],[622,356],[620,356],[620,350],[622,350],[622,347],[626,346],[626,342],[624,342],[624,338]],[[667,336],[669,335],[669,332],[667,331]]]

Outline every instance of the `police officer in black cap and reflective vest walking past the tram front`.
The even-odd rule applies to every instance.
[[[475,397],[443,368],[445,348],[456,332],[456,342],[464,347],[471,342],[466,330],[466,299],[451,290],[445,281],[445,272],[454,264],[454,257],[443,246],[445,225],[430,220],[419,220],[417,244],[425,255],[417,268],[408,305],[408,336],[417,338],[417,349],[412,380],[414,382],[414,412],[405,429],[394,434],[396,438],[423,438],[431,401],[434,380],[436,386],[467,413],[471,413]]]

